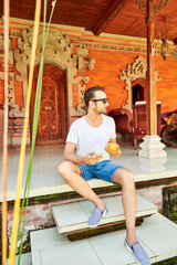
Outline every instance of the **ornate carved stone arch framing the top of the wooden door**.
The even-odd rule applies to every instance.
[[[18,39],[19,50],[14,51],[15,67],[19,72],[15,80],[23,82],[24,107],[28,89],[28,66],[30,65],[32,49],[33,28],[22,31],[21,38]],[[35,64],[40,64],[43,47],[43,29],[39,29]],[[86,68],[93,70],[95,60],[87,59],[88,50],[82,43],[76,43],[76,51],[70,38],[63,35],[59,30],[50,29],[44,50],[44,62],[52,63],[62,70],[66,70],[67,77],[67,98],[70,116],[81,116],[84,114],[83,91],[90,77],[86,76]],[[85,67],[86,65],[86,67]],[[83,70],[80,76],[79,71]],[[72,85],[79,85],[79,105],[73,107]]]

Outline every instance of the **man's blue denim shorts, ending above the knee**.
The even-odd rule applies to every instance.
[[[113,177],[117,169],[123,168],[117,163],[113,163],[111,160],[104,160],[96,162],[95,165],[77,165],[81,169],[81,176],[84,180],[92,178],[98,178],[113,183]]]

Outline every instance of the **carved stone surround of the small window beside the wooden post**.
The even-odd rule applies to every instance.
[[[123,70],[119,78],[125,82],[127,91],[127,100],[123,106],[132,109],[132,82],[138,78],[146,80],[147,63],[143,56],[138,56],[132,64],[128,64],[126,70]],[[156,82],[159,82],[158,72],[156,71]]]

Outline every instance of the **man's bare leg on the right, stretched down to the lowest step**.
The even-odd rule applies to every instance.
[[[132,245],[137,242],[135,234],[136,192],[134,174],[125,168],[117,169],[114,173],[113,182],[122,186],[123,208],[126,222],[126,241]]]

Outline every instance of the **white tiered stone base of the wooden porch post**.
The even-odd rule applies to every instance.
[[[138,156],[145,158],[164,158],[167,157],[167,152],[163,150],[165,145],[160,142],[159,136],[145,136],[144,141],[139,145],[142,150],[138,151]]]

